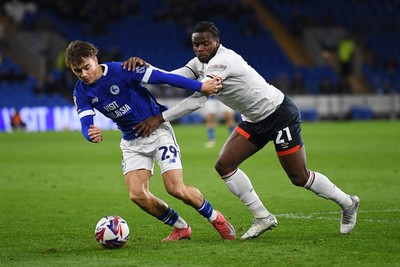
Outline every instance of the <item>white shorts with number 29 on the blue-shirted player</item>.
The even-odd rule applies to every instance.
[[[164,122],[149,137],[139,137],[130,141],[121,139],[122,171],[124,175],[133,170],[145,169],[154,173],[154,161],[161,174],[168,170],[182,169],[181,153],[174,130],[169,122]]]

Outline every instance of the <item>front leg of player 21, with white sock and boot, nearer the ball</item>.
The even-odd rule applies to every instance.
[[[259,147],[247,140],[236,128],[224,144],[215,168],[228,189],[246,205],[254,216],[253,225],[242,239],[258,237],[277,225],[276,218],[265,208],[249,177],[239,169],[239,165],[259,151]]]

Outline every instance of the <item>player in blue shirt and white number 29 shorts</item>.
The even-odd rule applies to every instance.
[[[131,200],[148,214],[174,227],[163,241],[188,239],[192,230],[174,209],[150,192],[154,161],[160,166],[170,195],[195,208],[222,238],[235,239],[235,229],[224,216],[213,209],[197,188],[184,184],[179,146],[170,123],[163,123],[148,137],[138,135],[133,129],[146,118],[167,110],[142,83],[165,83],[212,95],[221,88],[221,82],[213,79],[201,83],[146,66],[131,72],[123,69],[121,62],[99,64],[97,53],[93,44],[80,40],[66,48],[67,66],[79,78],[73,97],[84,137],[93,143],[103,140],[101,130],[93,123],[94,109],[117,124],[122,132],[122,170]]]

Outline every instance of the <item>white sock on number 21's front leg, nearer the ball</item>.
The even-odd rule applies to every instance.
[[[249,177],[240,169],[233,174],[226,175],[222,179],[229,190],[237,196],[253,213],[255,218],[264,218],[269,215],[269,211],[264,207]]]

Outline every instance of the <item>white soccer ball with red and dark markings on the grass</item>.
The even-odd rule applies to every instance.
[[[104,248],[120,248],[128,242],[129,227],[119,216],[106,216],[97,223],[94,234]]]

